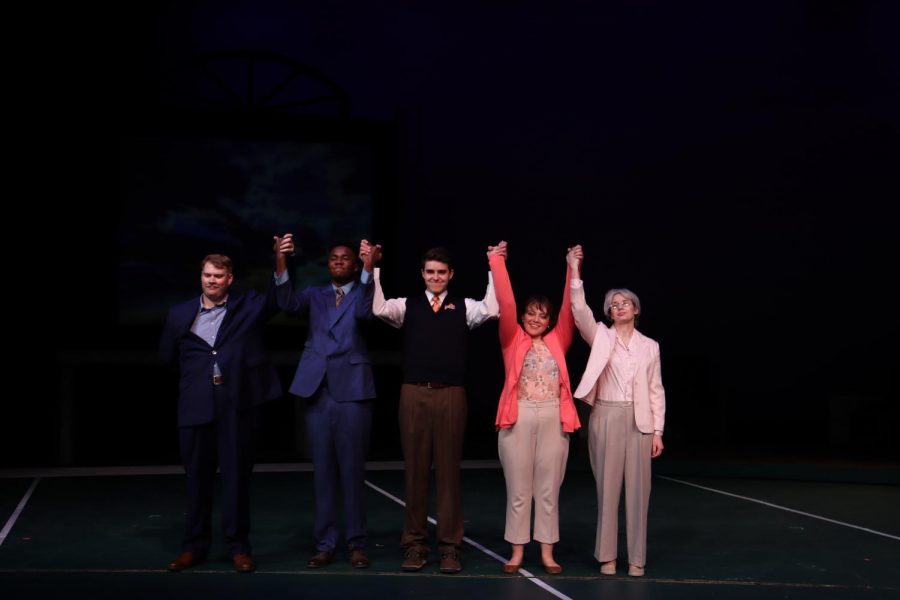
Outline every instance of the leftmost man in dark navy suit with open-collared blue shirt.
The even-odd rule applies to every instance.
[[[172,307],[160,340],[163,362],[179,370],[178,437],[187,474],[185,534],[169,570],[206,559],[218,467],[224,541],[234,568],[249,573],[256,568],[248,539],[254,409],[281,396],[262,338],[278,310],[274,282],[265,294],[237,294],[230,291],[230,258],[210,254],[201,264],[200,298]]]

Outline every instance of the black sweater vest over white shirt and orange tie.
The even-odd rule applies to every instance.
[[[464,298],[447,294],[438,312],[432,310],[424,293],[407,298],[403,319],[403,382],[463,385],[468,332]]]

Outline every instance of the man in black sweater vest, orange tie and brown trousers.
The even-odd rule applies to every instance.
[[[492,252],[498,251],[491,249]],[[366,241],[360,254],[381,258],[381,246]],[[372,312],[403,331],[403,385],[400,389],[400,440],[406,479],[406,512],[400,543],[402,569],[418,571],[428,562],[428,478],[434,462],[437,487],[437,543],[441,572],[462,570],[462,497],[459,467],[466,427],[467,332],[500,314],[488,274],[484,299],[458,298],[447,292],[453,263],[443,248],[422,257],[425,293],[385,299],[380,269],[375,269]]]

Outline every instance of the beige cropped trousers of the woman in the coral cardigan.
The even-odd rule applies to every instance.
[[[534,539],[559,541],[559,488],[569,458],[569,434],[562,430],[559,401],[519,402],[515,425],[501,429],[497,448],[506,478],[506,532],[511,544],[531,541],[531,501],[534,499]]]

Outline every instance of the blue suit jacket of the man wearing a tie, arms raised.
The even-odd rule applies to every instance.
[[[374,398],[372,362],[360,331],[360,324],[372,318],[374,282],[357,281],[338,307],[331,284],[295,294],[291,282],[276,286],[278,306],[289,313],[308,313],[309,333],[290,392],[308,398],[327,375],[331,395],[339,402]]]

